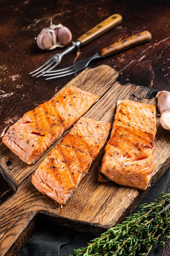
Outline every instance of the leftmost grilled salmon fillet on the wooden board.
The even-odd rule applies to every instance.
[[[26,112],[9,127],[2,142],[23,162],[34,164],[98,99],[71,85]]]

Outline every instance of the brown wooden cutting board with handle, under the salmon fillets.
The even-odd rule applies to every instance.
[[[66,85],[74,85],[99,95],[99,101],[91,107],[85,117],[113,123],[116,103],[121,99],[157,106],[154,90],[132,84],[121,85],[116,81],[117,76],[116,70],[101,65],[84,70]],[[154,186],[170,166],[170,134],[161,127],[159,118],[157,116],[155,137],[156,168],[152,175],[151,186]],[[51,148],[54,146],[55,144]],[[49,150],[36,164],[30,166],[11,153],[4,144],[0,144],[0,172],[15,191],[0,205],[0,256],[15,256],[19,252],[32,234],[35,221],[40,214],[55,224],[97,235],[121,222],[149,191],[149,188],[147,191],[140,191],[113,182],[99,183],[97,168],[102,158],[103,152],[101,152],[92,164],[89,174],[82,180],[68,202],[61,207],[54,200],[42,195],[31,184],[31,175]]]

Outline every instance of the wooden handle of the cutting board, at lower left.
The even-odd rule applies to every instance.
[[[35,228],[38,211],[57,213],[59,205],[40,193],[31,178],[18,187],[16,193],[0,208],[0,256],[15,256],[29,239]]]

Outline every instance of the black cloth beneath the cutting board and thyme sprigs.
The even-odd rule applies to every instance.
[[[155,186],[150,189],[141,203],[154,202],[163,191],[167,193],[170,186],[170,168],[159,179]],[[134,212],[139,211],[139,207]],[[43,226],[43,227],[42,227]],[[95,238],[92,234],[73,231],[67,227],[53,227],[52,223],[47,225],[38,224],[31,238],[18,253],[18,256],[69,256],[74,249],[86,247],[87,243]],[[149,256],[159,256],[159,245],[154,245]]]

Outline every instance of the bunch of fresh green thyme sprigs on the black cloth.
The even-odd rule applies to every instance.
[[[75,249],[79,256],[148,256],[155,243],[164,247],[170,240],[170,193],[161,193],[150,204],[141,204],[140,211],[131,214],[121,224],[110,227],[87,247]],[[72,256],[72,254],[70,254]]]

